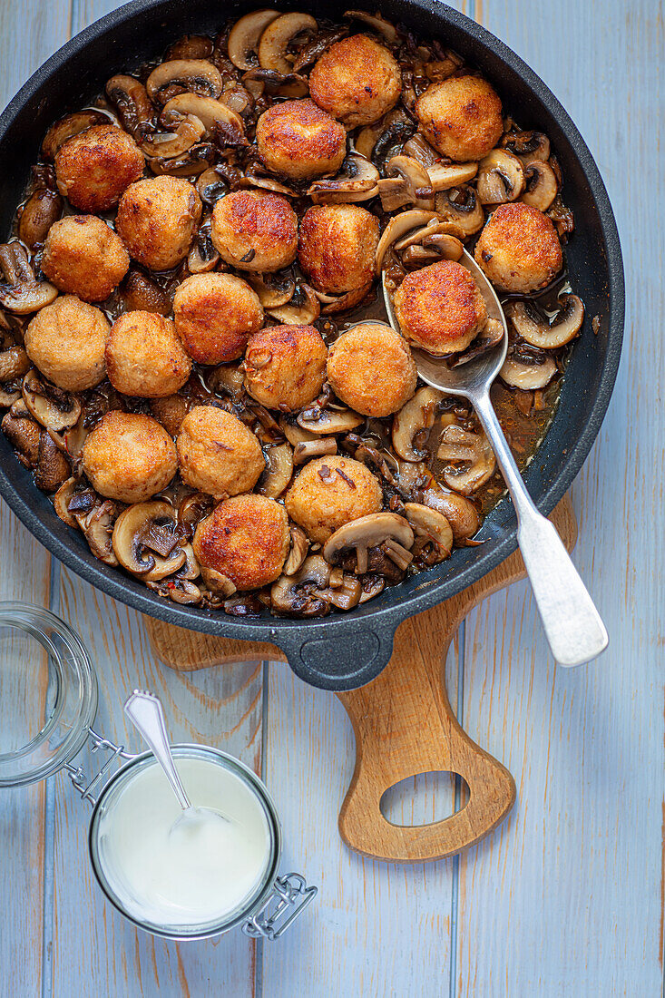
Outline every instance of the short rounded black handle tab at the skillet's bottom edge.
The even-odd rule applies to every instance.
[[[374,680],[392,655],[394,627],[347,625],[333,637],[275,636],[289,665],[300,679],[322,690],[356,690]]]

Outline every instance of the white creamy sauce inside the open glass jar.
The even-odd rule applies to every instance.
[[[197,811],[178,821],[183,810],[166,776],[156,761],[148,764],[101,816],[100,864],[137,921],[165,928],[221,922],[243,910],[266,876],[272,855],[266,810],[224,765],[181,756],[176,767],[193,807],[217,813]]]

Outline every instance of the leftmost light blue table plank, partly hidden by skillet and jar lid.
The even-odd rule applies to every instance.
[[[66,38],[70,0],[0,4],[0,107],[9,103],[30,73]],[[0,599],[49,605],[48,553],[0,502]],[[43,715],[46,672],[36,667],[34,646],[0,644],[0,751],[36,734]],[[0,791],[0,990],[8,995],[38,994],[42,987],[44,908],[44,783]]]

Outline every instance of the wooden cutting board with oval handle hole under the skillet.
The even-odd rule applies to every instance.
[[[550,519],[566,548],[577,539],[567,496]],[[373,682],[339,693],[355,734],[355,768],[339,811],[339,834],[351,849],[390,862],[424,862],[475,844],[503,820],[515,800],[508,770],[477,746],[457,724],[445,690],[450,641],[469,611],[486,596],[525,575],[519,552],[468,589],[398,628],[390,662]],[[286,662],[281,649],[186,631],[146,617],[155,654],[172,669],[192,671],[225,662]],[[462,776],[468,800],[450,817],[431,824],[390,823],[380,810],[388,787],[418,773]]]

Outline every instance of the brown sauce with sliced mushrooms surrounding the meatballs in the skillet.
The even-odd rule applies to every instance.
[[[560,198],[561,174],[547,138],[521,131],[505,112],[495,148],[477,163],[456,163],[425,139],[417,116],[418,98],[442,81],[477,76],[443,43],[421,41],[378,15],[359,11],[347,12],[340,24],[317,24],[309,15],[278,17],[275,12],[263,12],[264,21],[258,23],[259,13],[227,25],[216,38],[186,36],[161,61],[131,77],[114,77],[104,95],[55,123],[45,137],[42,159],[33,168],[10,241],[0,248],[4,273],[0,405],[6,410],[2,429],[18,460],[34,470],[36,486],[54,497],[58,514],[85,534],[93,553],[118,571],[143,578],[159,596],[240,616],[268,610],[321,616],[365,602],[384,586],[449,557],[452,548],[474,543],[482,516],[504,486],[472,410],[464,401],[441,396],[420,381],[398,413],[379,418],[351,412],[346,425],[349,410],[328,381],[300,411],[270,410],[249,394],[242,355],[222,364],[194,362],[186,383],[165,398],[124,394],[106,377],[84,390],[59,387],[23,345],[35,314],[50,307],[59,290],[67,289],[51,284],[42,269],[51,227],[77,213],[63,197],[63,184],[56,176],[59,148],[101,123],[117,125],[143,151],[144,176],[185,178],[203,203],[198,231],[176,267],[160,271],[132,259],[110,296],[96,302],[110,323],[135,310],[171,315],[173,296],[182,281],[212,272],[237,273],[252,284],[265,309],[266,327],[314,326],[329,346],[357,322],[385,322],[380,281],[375,279],[350,291],[330,292],[308,283],[297,261],[268,274],[223,262],[212,242],[211,215],[230,192],[282,195],[299,221],[313,204],[359,203],[378,220],[383,234],[374,273],[387,267],[394,287],[408,272],[458,258],[462,245],[472,252],[498,205],[521,203],[538,209],[553,223],[562,244],[572,235],[573,220]],[[289,18],[289,24],[282,23]],[[351,127],[346,123],[346,152],[333,175],[329,172],[312,183],[312,178],[304,181],[271,172],[257,150],[258,119],[281,102],[307,98],[313,66],[337,43],[358,33],[379,43],[396,61],[398,99],[376,121]],[[179,74],[170,70],[176,62]],[[188,73],[188,64],[196,64],[196,72]],[[180,114],[165,112],[174,98],[192,93],[219,105],[219,119],[212,124],[202,121],[187,108]],[[413,178],[422,176],[426,183],[417,186]],[[115,229],[115,208],[94,214]],[[386,230],[395,218],[405,220],[400,236],[386,242]],[[400,249],[403,243],[409,245]],[[567,279],[562,270],[545,286],[523,293],[506,293],[497,286],[510,328],[508,358],[492,398],[520,468],[529,462],[549,425],[568,343],[581,326],[582,303]],[[466,351],[478,348],[482,348],[481,334]],[[448,360],[463,362],[463,353]],[[257,436],[266,470],[255,492],[283,503],[293,476],[312,454],[347,456],[362,462],[380,481],[383,510],[403,519],[405,533],[371,534],[373,546],[361,552],[357,545],[313,543],[292,522],[290,553],[280,578],[253,592],[237,592],[233,580],[224,575],[202,575],[192,547],[197,526],[220,496],[213,498],[176,474],[167,488],[143,503],[145,518],[135,518],[140,527],[132,537],[133,558],[127,560],[116,523],[128,504],[100,494],[86,478],[82,461],[86,438],[112,410],[154,417],[177,437],[185,414],[201,405],[232,413]],[[333,432],[317,433],[317,422],[331,414]],[[335,427],[338,416],[343,418]],[[322,447],[322,440],[330,445]],[[317,445],[309,449],[312,441]],[[322,555],[330,551],[333,556],[329,554],[327,563]],[[275,595],[276,587],[283,592],[285,583],[290,593],[287,604]]]

